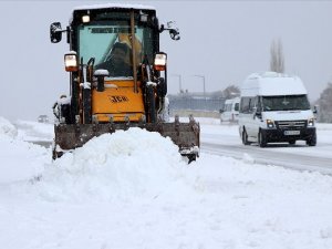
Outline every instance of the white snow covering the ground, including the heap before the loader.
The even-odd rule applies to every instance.
[[[19,123],[0,118],[1,248],[332,248],[331,176],[205,153],[187,165],[138,128],[52,163],[50,148],[23,142],[52,125]]]

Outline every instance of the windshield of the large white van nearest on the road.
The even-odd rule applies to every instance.
[[[310,110],[307,95],[262,96],[263,111]]]

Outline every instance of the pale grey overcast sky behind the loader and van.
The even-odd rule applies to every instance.
[[[50,42],[50,23],[69,23],[76,6],[106,1],[0,1],[0,115],[35,120],[69,93],[63,68],[65,41]],[[107,1],[110,2],[110,1]],[[124,2],[124,1],[112,1]],[[283,45],[286,72],[299,75],[310,101],[332,82],[332,1],[125,1],[157,9],[163,22],[175,20],[181,40],[162,34],[168,53],[168,92],[240,85],[253,72],[269,70],[274,39]]]

